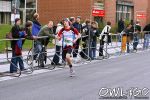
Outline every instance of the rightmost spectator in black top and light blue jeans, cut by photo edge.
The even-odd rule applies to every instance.
[[[143,31],[144,33],[144,44],[143,44],[143,49],[148,49],[149,47],[149,39],[150,39],[150,24],[147,24]]]

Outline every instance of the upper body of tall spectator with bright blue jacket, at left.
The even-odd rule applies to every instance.
[[[33,15],[32,35],[38,36],[40,29],[41,29],[41,24],[39,23],[39,14],[35,13]]]

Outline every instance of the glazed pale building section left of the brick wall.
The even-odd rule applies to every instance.
[[[32,19],[37,9],[37,0],[1,0],[0,24],[14,24],[15,18],[21,18],[23,23]]]

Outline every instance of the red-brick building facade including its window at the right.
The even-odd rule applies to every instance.
[[[57,23],[62,18],[72,16],[93,19],[91,12],[95,3],[104,4],[105,16],[99,17],[104,22],[111,21],[115,25],[121,17],[137,20],[138,13],[146,15],[138,18],[142,26],[150,22],[150,0],[38,0],[37,11],[43,24],[48,20]]]

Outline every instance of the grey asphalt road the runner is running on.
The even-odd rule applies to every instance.
[[[100,100],[102,87],[150,89],[150,52],[0,82],[0,100]],[[128,99],[129,100],[129,99]]]

